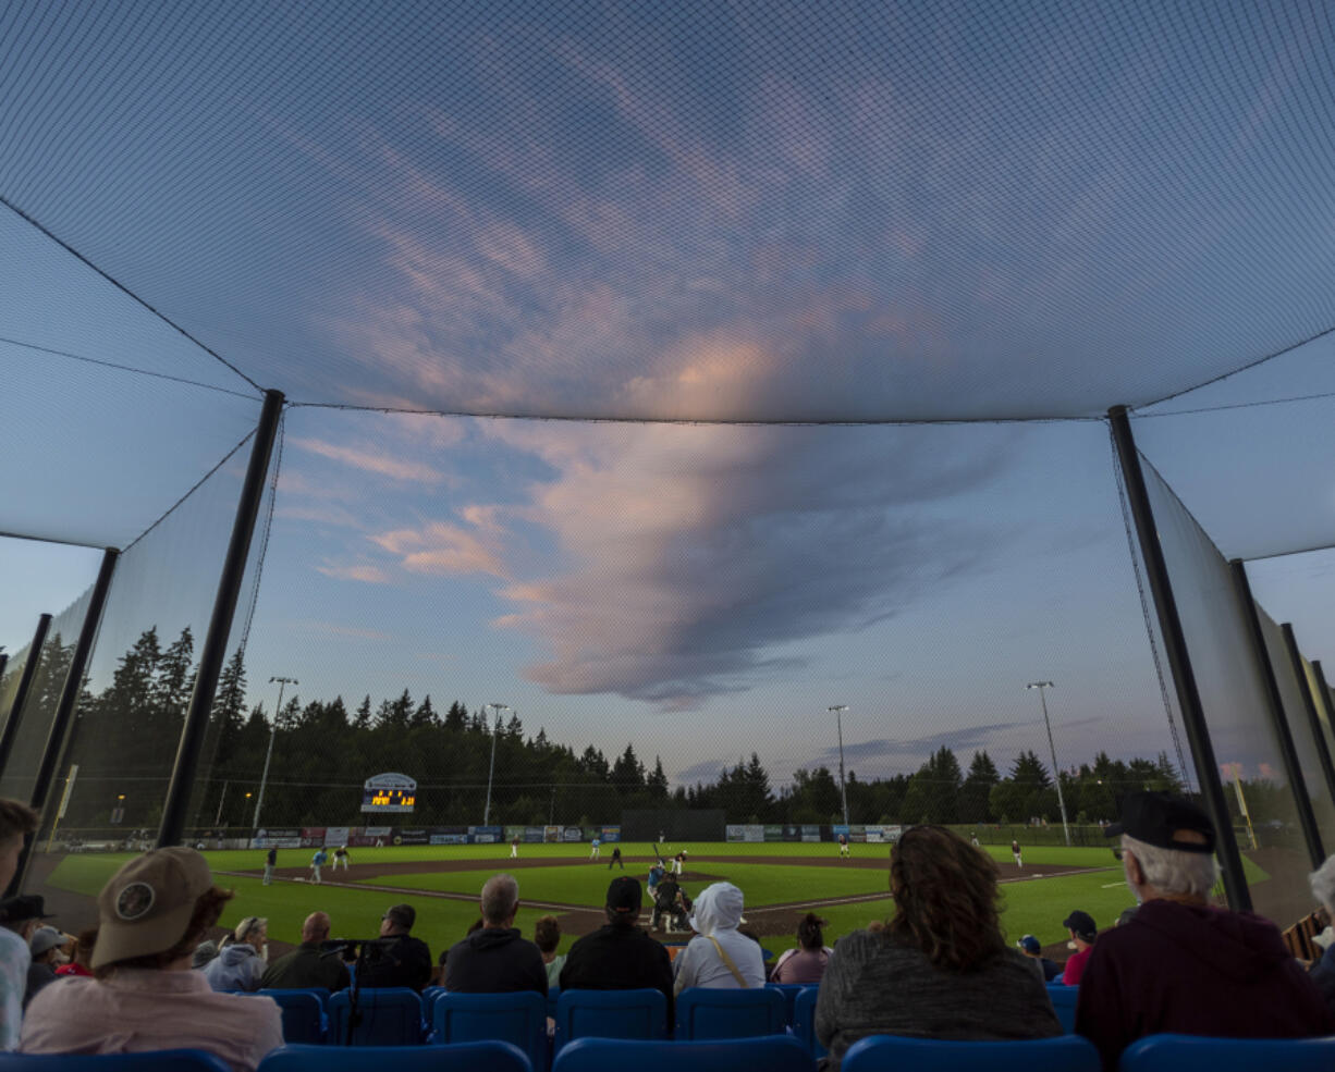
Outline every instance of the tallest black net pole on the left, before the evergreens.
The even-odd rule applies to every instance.
[[[163,805],[163,821],[158,828],[158,848],[180,844],[186,830],[186,808],[195,784],[195,770],[199,766],[199,752],[204,745],[208,714],[214,706],[218,676],[223,670],[227,641],[232,630],[232,617],[236,613],[236,602],[246,575],[251,537],[255,534],[255,521],[259,518],[260,501],[264,497],[264,475],[268,473],[268,461],[274,451],[274,441],[278,437],[278,423],[282,415],[283,392],[266,391],[264,409],[255,430],[255,446],[251,447],[250,465],[246,469],[246,483],[242,486],[240,502],[236,506],[232,538],[227,545],[223,575],[218,582],[214,614],[208,621],[208,633],[204,635],[204,645],[199,653],[195,690],[190,697],[186,725],[182,728],[180,745],[176,749],[176,762],[172,765],[167,801]]]

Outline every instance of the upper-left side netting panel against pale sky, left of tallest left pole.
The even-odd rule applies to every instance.
[[[5,208],[0,294],[0,534],[124,547],[254,430],[243,379]]]

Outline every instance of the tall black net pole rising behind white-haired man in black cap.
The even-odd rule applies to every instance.
[[[1145,490],[1144,473],[1140,471],[1140,455],[1136,453],[1136,441],[1131,435],[1127,407],[1113,406],[1108,410],[1108,422],[1112,427],[1112,443],[1117,451],[1117,461],[1121,465],[1127,499],[1131,503],[1131,517],[1136,525],[1140,555],[1149,578],[1149,593],[1155,601],[1159,629],[1168,653],[1168,666],[1172,670],[1173,686],[1177,692],[1177,706],[1181,709],[1181,721],[1187,726],[1187,741],[1196,764],[1196,780],[1200,782],[1200,794],[1204,797],[1206,809],[1210,812],[1219,834],[1216,853],[1223,872],[1224,896],[1234,910],[1251,912],[1251,890],[1247,889],[1247,878],[1243,874],[1243,857],[1238,850],[1238,836],[1234,833],[1234,821],[1228,814],[1224,785],[1219,780],[1215,745],[1210,740],[1206,712],[1200,704],[1200,690],[1196,688],[1196,676],[1191,669],[1187,635],[1183,631],[1177,601],[1173,598],[1172,583],[1168,579],[1168,565],[1164,562],[1163,549],[1159,546],[1155,514],[1149,507],[1149,493]]]

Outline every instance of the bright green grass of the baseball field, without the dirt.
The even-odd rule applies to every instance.
[[[889,845],[857,844],[853,852],[858,857],[874,853],[888,861],[889,848]],[[530,898],[589,908],[601,905],[609,878],[606,866],[609,852],[603,852],[601,864],[589,861],[587,845],[523,845],[519,852],[521,858],[569,861],[569,866],[517,869],[521,902],[523,898]],[[992,846],[988,852],[997,860],[1009,862],[1009,850],[1005,846]],[[623,845],[622,853],[629,858],[626,873],[642,880],[651,856],[650,845]],[[96,896],[107,878],[129,856],[127,853],[71,856],[61,861],[48,882]],[[208,852],[206,856],[210,865],[219,872],[258,870],[263,865],[263,853],[252,850]],[[280,849],[279,866],[304,865],[310,856],[308,849]],[[386,846],[352,852],[354,862],[372,866],[441,860],[475,864],[467,870],[400,873],[386,876],[383,880],[386,885],[457,893],[478,892],[487,876],[506,869],[509,856],[507,845]],[[829,860],[829,866],[762,864],[748,858],[761,856]],[[1036,846],[1025,852],[1025,870],[1041,872],[1045,864],[1099,868],[1099,870],[1004,884],[1001,925],[1011,941],[1025,933],[1036,934],[1044,944],[1061,941],[1065,937],[1061,920],[1072,909],[1084,909],[1100,925],[1109,925],[1117,913],[1131,904],[1129,893],[1121,882],[1121,868],[1107,849]],[[745,892],[748,908],[752,909],[766,904],[877,893],[886,889],[885,870],[840,866],[836,846],[828,844],[700,844],[690,850],[688,870],[734,881]],[[326,874],[331,877],[330,872]],[[363,881],[374,884],[375,880]],[[392,901],[402,900],[379,890],[332,885],[323,885],[318,892],[302,882],[275,882],[266,886],[259,878],[240,876],[219,876],[219,882],[236,892],[236,898],[223,913],[224,926],[235,925],[243,916],[267,916],[270,933],[286,941],[298,940],[302,920],[315,908],[330,913],[335,934],[372,936],[379,928],[384,909]],[[688,878],[689,892],[698,893],[700,885]],[[423,898],[417,902],[417,908],[418,925],[414,933],[419,934],[433,952],[462,937],[478,914],[474,904],[445,898]],[[826,905],[818,910],[830,921],[828,939],[833,940],[865,926],[872,920],[885,918],[892,910],[892,904],[889,897],[885,897],[849,905]],[[543,913],[539,910],[521,908],[518,925],[526,933],[531,932],[534,920],[541,914]],[[565,936],[562,949],[567,948],[574,937],[574,934]],[[766,945],[776,952],[785,948],[778,937],[768,937]]]

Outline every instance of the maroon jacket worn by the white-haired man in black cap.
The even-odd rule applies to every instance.
[[[1076,1033],[1115,1069],[1136,1039],[1169,1031],[1294,1039],[1331,1033],[1335,1017],[1270,920],[1145,901],[1099,936],[1080,981]]]

